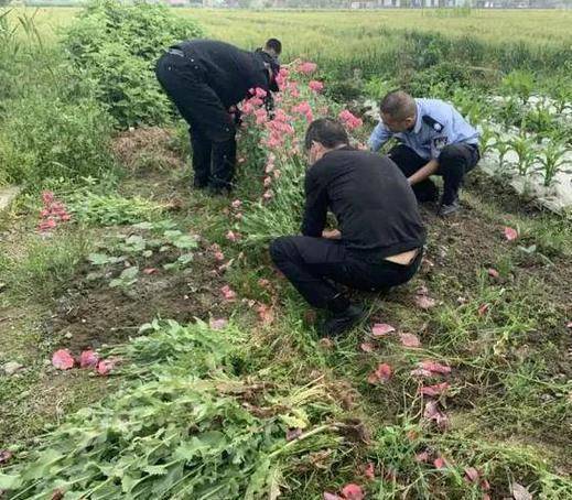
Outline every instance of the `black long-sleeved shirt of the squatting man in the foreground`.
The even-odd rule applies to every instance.
[[[305,196],[304,236],[322,236],[330,209],[349,249],[385,258],[425,242],[411,186],[387,156],[350,146],[330,151],[307,171]]]

